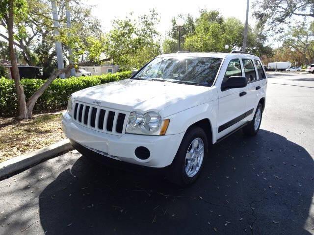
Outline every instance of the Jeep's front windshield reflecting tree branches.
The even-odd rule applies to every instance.
[[[133,79],[211,86],[221,61],[210,57],[158,57]]]

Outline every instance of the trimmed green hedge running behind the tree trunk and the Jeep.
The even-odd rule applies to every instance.
[[[70,94],[107,82],[119,81],[131,77],[131,71],[109,73],[99,76],[57,78],[52,81],[48,89],[37,100],[34,113],[57,111],[66,109]],[[45,83],[41,79],[22,79],[26,100]],[[14,81],[0,78],[0,116],[14,116],[17,114],[17,95]]]

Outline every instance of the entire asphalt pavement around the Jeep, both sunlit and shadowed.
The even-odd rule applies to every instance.
[[[191,187],[74,150],[0,182],[0,234],[314,234],[314,75],[268,78],[259,134],[214,145]]]

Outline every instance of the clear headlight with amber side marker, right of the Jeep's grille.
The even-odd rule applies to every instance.
[[[156,112],[130,114],[126,133],[142,135],[164,135],[169,124],[169,119],[161,120]],[[166,126],[166,127],[165,127]]]

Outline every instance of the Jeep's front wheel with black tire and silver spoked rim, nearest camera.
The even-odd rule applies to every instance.
[[[200,175],[207,153],[205,131],[198,126],[188,129],[172,163],[169,180],[182,187],[194,183]]]

